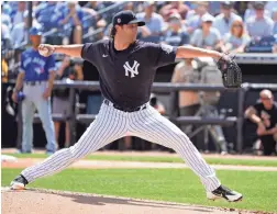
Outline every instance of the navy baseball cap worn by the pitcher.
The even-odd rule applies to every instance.
[[[123,24],[137,24],[137,26],[144,26],[145,22],[137,20],[133,11],[125,10],[118,12],[112,19],[113,26]]]

